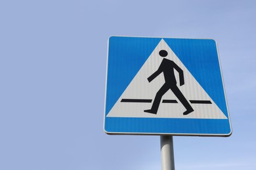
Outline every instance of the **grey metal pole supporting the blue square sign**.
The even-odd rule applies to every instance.
[[[160,136],[161,170],[175,170],[173,154],[173,136]]]

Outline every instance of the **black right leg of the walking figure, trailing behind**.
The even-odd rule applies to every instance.
[[[183,112],[184,115],[194,111],[194,109],[191,107],[191,105],[188,103],[188,101],[186,100],[186,98],[184,97],[184,95],[181,93],[181,91],[176,85],[171,86],[171,90],[179,99],[179,101],[181,101],[182,105],[186,108],[186,111]]]

